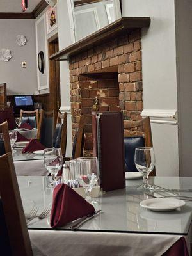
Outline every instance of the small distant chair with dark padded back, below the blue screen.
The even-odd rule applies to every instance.
[[[22,119],[22,124],[27,123],[32,128],[38,129],[38,109],[33,111],[20,110],[20,118]]]

